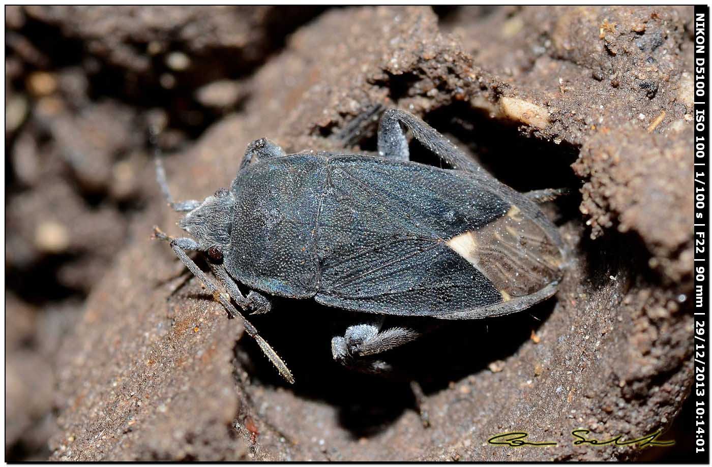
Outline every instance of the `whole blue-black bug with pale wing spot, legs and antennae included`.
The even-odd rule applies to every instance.
[[[402,125],[452,168],[411,162]],[[384,112],[378,153],[285,154],[257,140],[229,189],[179,203],[157,159],[159,184],[172,208],[187,212],[179,225],[192,238],[156,236],[170,241],[229,315],[244,320],[288,382],[286,364],[230,298],[251,313],[270,310],[269,295],[370,313],[333,338],[332,352],[343,364],[379,372],[387,368],[373,355],[419,336],[409,327],[382,329],[384,315],[506,315],[553,295],[562,277],[562,240],[536,204],[555,191],[507,187],[401,110]],[[186,251],[206,253],[227,294]],[[236,281],[251,290],[246,297]]]

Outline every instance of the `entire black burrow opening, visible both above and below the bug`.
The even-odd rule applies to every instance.
[[[521,135],[515,127],[493,121],[466,105],[445,107],[425,119],[456,145],[477,154],[498,179],[520,191],[575,187],[573,195],[555,201],[554,209],[547,213],[559,223],[580,218],[580,182],[569,167],[577,154],[575,148]],[[365,133],[358,144],[365,151],[375,151],[375,135]],[[418,162],[438,163],[417,142],[411,143],[411,154]],[[401,373],[389,378],[346,369],[331,355],[332,337],[343,335],[347,326],[364,322],[370,315],[328,308],[313,300],[275,298],[270,314],[253,316],[251,321],[286,361],[296,383],[283,382],[247,336],[236,346],[236,355],[251,385],[282,386],[297,397],[337,406],[340,424],[357,439],[385,429],[404,411],[416,408],[409,380],[419,382],[426,395],[433,394],[513,355],[548,318],[555,304],[556,298],[551,298],[520,313],[486,320],[388,317],[384,327],[437,326],[419,340],[382,355]]]

